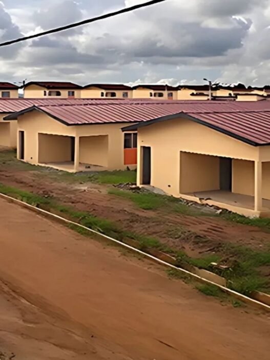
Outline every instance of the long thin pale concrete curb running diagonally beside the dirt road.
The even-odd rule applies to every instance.
[[[268,305],[266,305],[266,304],[263,304],[263,303],[261,303],[261,302],[258,301],[258,300],[254,300],[254,299],[248,298],[248,297],[246,297],[245,295],[242,295],[242,294],[240,294],[240,293],[238,293],[238,292],[236,292],[236,291],[234,291],[234,290],[231,290],[231,289],[229,289],[229,288],[227,288],[227,287],[225,287],[225,286],[222,286],[222,285],[219,285],[219,284],[217,284],[217,283],[214,283],[214,282],[212,282],[212,281],[210,281],[210,280],[204,279],[204,278],[198,276],[197,274],[195,274],[195,273],[193,273],[193,272],[190,272],[190,271],[188,271],[188,270],[184,270],[184,269],[179,268],[179,267],[177,267],[177,266],[175,266],[175,265],[173,265],[173,264],[170,264],[170,263],[168,263],[168,262],[166,262],[166,261],[164,261],[164,260],[158,259],[157,257],[155,257],[155,256],[153,256],[153,255],[150,255],[150,254],[147,253],[147,252],[141,251],[141,250],[135,248],[134,246],[131,246],[131,245],[128,245],[128,244],[126,244],[126,243],[123,243],[123,242],[121,242],[121,241],[119,241],[119,240],[113,239],[113,238],[111,238],[111,237],[109,237],[109,236],[107,236],[107,235],[103,235],[103,234],[101,234],[101,233],[98,232],[98,231],[92,230],[92,229],[90,229],[90,228],[88,228],[88,227],[86,227],[86,226],[83,226],[83,225],[80,225],[80,224],[78,224],[78,223],[76,223],[76,222],[73,222],[73,221],[70,221],[70,220],[68,220],[68,219],[62,218],[62,217],[60,217],[60,216],[58,216],[58,215],[52,214],[52,213],[50,213],[49,211],[46,211],[46,210],[43,210],[43,209],[39,209],[38,207],[35,207],[35,206],[33,206],[33,205],[30,205],[30,204],[27,204],[27,203],[25,203],[25,202],[23,202],[23,201],[14,199],[14,198],[12,198],[12,197],[10,197],[10,196],[8,196],[8,195],[4,195],[4,194],[1,194],[1,193],[0,193],[0,198],[5,199],[5,200],[7,200],[7,201],[10,202],[10,203],[15,203],[15,204],[17,204],[17,205],[19,205],[19,206],[22,206],[22,207],[24,207],[24,208],[26,208],[26,209],[28,209],[28,210],[34,211],[34,213],[36,213],[36,214],[38,214],[38,215],[41,215],[41,216],[44,216],[44,217],[46,217],[46,218],[48,218],[48,219],[50,219],[50,220],[57,221],[57,222],[60,223],[60,224],[64,224],[64,225],[67,225],[67,224],[68,224],[68,225],[78,226],[78,227],[80,227],[81,229],[87,230],[87,231],[89,231],[90,233],[92,233],[93,235],[98,236],[98,237],[100,237],[100,238],[103,239],[103,240],[109,240],[110,242],[114,242],[114,243],[118,244],[118,245],[121,246],[121,247],[127,248],[127,249],[129,249],[129,250],[131,250],[131,251],[133,251],[133,252],[139,253],[139,254],[142,255],[143,257],[145,257],[145,258],[147,258],[147,259],[150,259],[150,260],[152,260],[152,261],[154,261],[154,262],[156,262],[156,263],[158,263],[158,264],[161,264],[161,265],[163,265],[163,266],[165,266],[165,267],[167,267],[167,268],[169,268],[169,269],[174,269],[174,270],[180,271],[180,272],[182,272],[183,274],[186,274],[186,275],[188,275],[188,276],[196,279],[197,281],[199,281],[199,282],[201,282],[201,283],[215,285],[215,286],[217,286],[221,291],[223,291],[223,292],[231,295],[232,297],[234,297],[234,298],[236,298],[236,299],[238,299],[238,300],[240,300],[240,301],[242,301],[242,302],[244,302],[244,303],[246,303],[246,304],[250,304],[250,305],[252,305],[252,306],[254,306],[254,307],[256,307],[256,308],[259,308],[259,309],[261,309],[261,310],[265,310],[265,311],[270,312],[270,306],[268,306]]]

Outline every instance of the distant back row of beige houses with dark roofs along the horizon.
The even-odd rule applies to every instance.
[[[79,86],[72,82],[30,81],[24,86],[24,98],[116,98],[116,99],[166,99],[166,100],[209,100],[209,86],[182,85],[172,87],[162,84],[139,84],[129,87],[124,84],[88,84]],[[0,82],[0,97],[17,98],[19,87],[8,82]],[[270,98],[270,86],[245,87],[212,86],[212,100],[256,101]]]

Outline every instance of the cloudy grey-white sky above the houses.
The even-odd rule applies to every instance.
[[[2,0],[0,42],[146,0]],[[0,49],[0,81],[270,84],[270,0],[167,0]]]

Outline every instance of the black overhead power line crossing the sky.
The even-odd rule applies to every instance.
[[[59,31],[69,30],[69,29],[76,28],[76,27],[81,26],[81,25],[94,23],[94,22],[96,22],[98,20],[106,19],[108,17],[120,15],[120,14],[123,14],[123,13],[126,13],[126,12],[131,12],[131,11],[134,11],[134,10],[137,10],[137,9],[140,9],[140,8],[145,8],[145,7],[148,7],[148,6],[151,6],[151,5],[162,3],[164,1],[167,1],[167,0],[152,0],[152,1],[148,1],[147,3],[142,3],[142,4],[130,6],[129,8],[124,8],[124,9],[117,10],[117,11],[114,11],[114,12],[109,12],[107,14],[103,14],[103,15],[100,15],[100,16],[92,17],[90,19],[82,20],[81,22],[78,22],[78,23],[73,23],[73,24],[61,26],[59,28],[43,31],[43,32],[33,34],[33,35],[29,35],[29,36],[19,37],[19,38],[14,39],[14,40],[5,41],[5,43],[1,43],[0,47],[20,43],[21,41],[26,41],[26,40],[29,40],[29,39],[33,39],[35,37],[54,34],[54,33],[59,32]]]

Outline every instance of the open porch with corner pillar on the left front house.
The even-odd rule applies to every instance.
[[[38,165],[70,173],[108,170],[108,135],[38,134]]]

